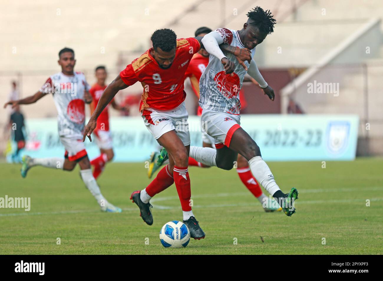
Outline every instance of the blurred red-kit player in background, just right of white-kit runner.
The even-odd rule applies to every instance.
[[[93,102],[90,104],[90,114],[93,114],[98,101],[102,93],[106,88],[105,80],[108,74],[104,66],[100,65],[96,67],[95,76],[97,78],[97,83],[90,88],[89,93],[93,97]],[[125,110],[124,107],[119,106],[114,99],[110,102],[111,106],[116,110]],[[90,164],[94,167],[93,177],[95,179],[101,174],[104,170],[106,162],[109,162],[115,156],[113,152],[113,142],[111,138],[111,132],[109,128],[109,104],[101,112],[100,116],[97,119],[97,127],[93,131],[97,137],[97,145],[100,148],[100,156],[90,161]]]

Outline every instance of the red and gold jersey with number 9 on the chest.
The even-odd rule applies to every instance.
[[[195,38],[177,39],[175,58],[168,69],[162,69],[147,50],[141,57],[133,60],[120,77],[128,86],[140,81],[144,91],[141,96],[140,111],[146,108],[172,110],[186,97],[183,90],[185,71],[193,54],[200,50]]]

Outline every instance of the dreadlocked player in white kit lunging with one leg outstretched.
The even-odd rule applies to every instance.
[[[291,216],[295,213],[294,200],[298,199],[298,191],[291,188],[290,193],[285,194],[280,190],[270,168],[261,157],[259,146],[240,126],[239,90],[246,73],[274,100],[274,91],[260,74],[253,57],[255,47],[274,31],[276,20],[270,10],[264,11],[259,6],[249,11],[247,17],[249,19],[239,31],[218,28],[202,39],[205,50],[211,56],[200,78],[201,122],[205,132],[214,138],[217,149],[190,146],[190,157],[208,166],[231,170],[237,154],[241,154],[249,161],[254,177],[278,201],[284,213]],[[233,49],[246,48],[251,52],[251,59],[244,62],[246,68],[232,54],[225,55],[222,52],[218,47],[222,43],[229,44]],[[235,61],[234,74],[225,73],[221,63],[223,58]]]

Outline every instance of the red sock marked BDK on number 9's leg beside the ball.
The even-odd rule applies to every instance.
[[[191,191],[188,167],[174,166],[173,177],[178,197],[181,201],[182,211],[191,211]]]

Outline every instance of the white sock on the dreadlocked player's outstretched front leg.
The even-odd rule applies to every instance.
[[[249,161],[250,170],[259,183],[267,190],[268,193],[274,195],[280,190],[274,180],[274,176],[267,166],[266,162],[260,156],[255,156]]]

